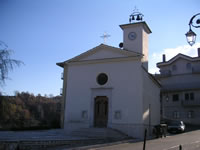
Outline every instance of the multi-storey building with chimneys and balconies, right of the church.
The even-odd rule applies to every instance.
[[[163,119],[200,125],[200,48],[197,57],[178,54],[157,63]]]

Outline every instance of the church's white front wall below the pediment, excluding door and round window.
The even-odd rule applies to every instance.
[[[108,82],[103,86],[96,82],[100,73],[108,75]],[[74,127],[93,127],[94,98],[107,96],[108,127],[120,129],[134,137],[141,135],[142,130],[138,130],[143,124],[141,62],[71,64],[67,77],[65,129],[71,131]],[[87,118],[82,118],[83,111],[87,112]],[[115,118],[116,111],[121,112],[120,119]]]

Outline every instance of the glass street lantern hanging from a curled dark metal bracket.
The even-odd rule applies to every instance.
[[[200,17],[200,13],[192,16],[189,22],[189,31],[185,34],[187,42],[190,44],[190,46],[194,45],[196,41],[196,33],[192,31],[191,27],[200,28],[200,18],[196,19],[197,16]]]

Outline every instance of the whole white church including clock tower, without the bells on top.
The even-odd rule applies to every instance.
[[[148,73],[145,22],[120,25],[123,48],[105,44],[57,63],[64,69],[64,129],[112,128],[142,138],[160,123],[160,84]]]

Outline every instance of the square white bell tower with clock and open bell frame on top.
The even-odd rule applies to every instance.
[[[148,35],[150,28],[142,21],[143,14],[134,11],[129,24],[120,25],[123,30],[123,49],[143,54],[142,62],[148,70]]]

